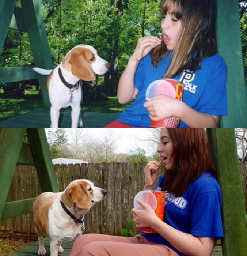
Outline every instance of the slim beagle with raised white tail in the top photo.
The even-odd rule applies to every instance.
[[[48,75],[46,86],[51,103],[52,128],[58,128],[59,111],[71,106],[72,128],[82,127],[80,104],[82,100],[81,80],[95,80],[95,74],[103,75],[110,64],[100,58],[90,45],[76,45],[53,70],[33,68],[42,75]]]

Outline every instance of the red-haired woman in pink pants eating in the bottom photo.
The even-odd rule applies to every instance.
[[[215,240],[223,237],[223,227],[221,191],[204,129],[163,128],[157,152],[164,173],[157,178],[159,162],[148,162],[144,189],[166,192],[163,221],[141,200],[137,202],[143,210],[132,209],[137,228],[151,227],[157,233],[84,234],[74,242],[71,256],[211,255]]]

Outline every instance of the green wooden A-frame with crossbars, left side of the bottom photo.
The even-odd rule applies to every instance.
[[[23,145],[27,132],[30,144]],[[26,214],[32,211],[34,198],[5,203],[15,166],[20,163],[34,163],[43,192],[58,192],[57,179],[50,157],[43,128],[0,129],[0,220]],[[32,159],[31,159],[32,158]]]

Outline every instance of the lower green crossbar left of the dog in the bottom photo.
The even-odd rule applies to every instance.
[[[35,198],[29,198],[4,204],[1,219],[8,219],[19,215],[33,212],[33,202]]]

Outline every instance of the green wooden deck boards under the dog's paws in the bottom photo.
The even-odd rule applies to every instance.
[[[69,256],[71,247],[72,247],[71,242],[62,245],[62,248],[64,248],[64,252],[60,253],[59,255]],[[46,249],[46,255],[50,255],[49,241],[47,239],[45,239],[45,249]],[[34,242],[33,244],[11,254],[11,256],[31,256],[31,255],[38,255],[38,242]],[[221,246],[215,246],[211,256],[222,256]]]

